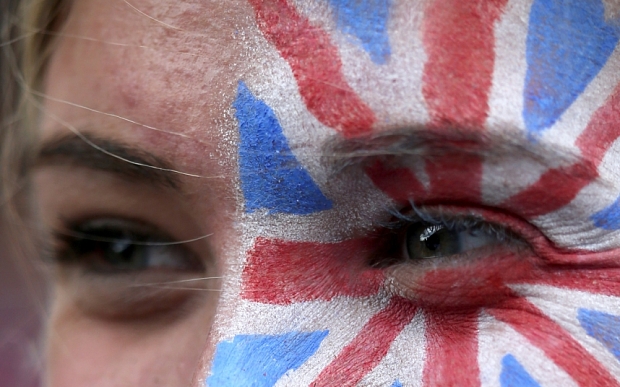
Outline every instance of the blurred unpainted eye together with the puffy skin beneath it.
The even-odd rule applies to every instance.
[[[204,239],[204,238],[198,238]],[[210,255],[155,226],[119,218],[69,223],[55,233],[58,294],[96,318],[171,316],[208,303],[219,289]],[[196,247],[194,250],[193,247]]]

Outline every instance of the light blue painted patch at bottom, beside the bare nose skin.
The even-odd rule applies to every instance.
[[[209,387],[273,386],[286,372],[312,356],[327,331],[282,335],[238,335],[220,342],[215,350]]]

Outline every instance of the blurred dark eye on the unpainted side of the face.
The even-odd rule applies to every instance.
[[[145,270],[199,271],[203,265],[184,245],[151,226],[119,219],[96,219],[59,236],[62,263],[95,273]]]

